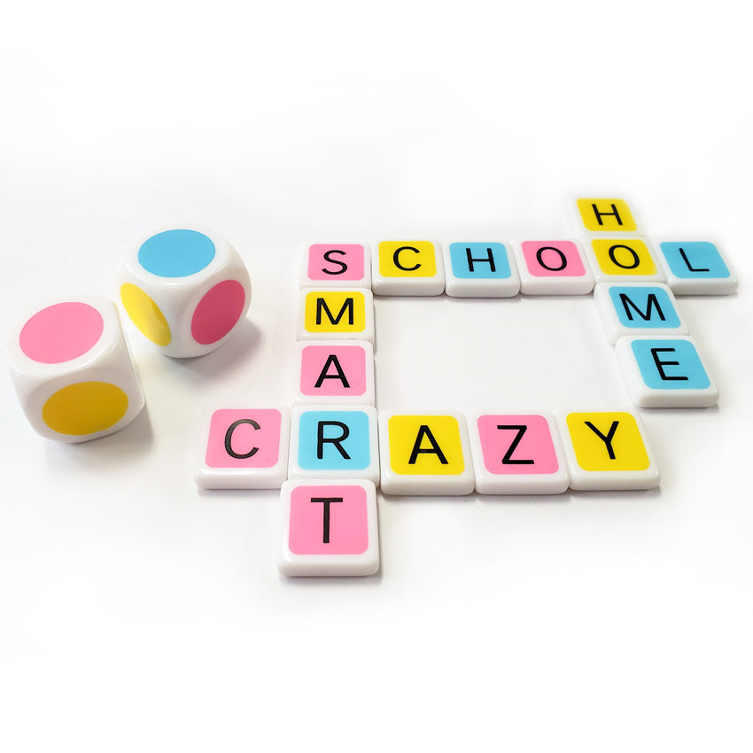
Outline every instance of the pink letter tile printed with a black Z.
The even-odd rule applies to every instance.
[[[560,494],[570,485],[552,415],[474,414],[469,436],[480,494]]]

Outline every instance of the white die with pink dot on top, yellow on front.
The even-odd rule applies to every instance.
[[[21,408],[48,439],[85,442],[133,421],[144,407],[112,300],[58,300],[27,316],[8,345]]]

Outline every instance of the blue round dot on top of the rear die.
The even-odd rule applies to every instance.
[[[160,277],[195,275],[214,258],[212,240],[196,230],[166,230],[144,241],[138,263]]]

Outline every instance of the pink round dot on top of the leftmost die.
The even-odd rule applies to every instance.
[[[56,303],[38,311],[21,328],[23,353],[39,363],[73,361],[97,345],[105,321],[86,303]]]

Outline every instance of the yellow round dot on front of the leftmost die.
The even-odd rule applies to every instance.
[[[126,415],[128,395],[109,382],[78,382],[44,403],[42,419],[60,434],[82,437],[114,426]]]

